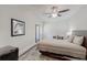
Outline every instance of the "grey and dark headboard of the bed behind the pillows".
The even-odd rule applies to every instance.
[[[87,30],[75,30],[73,31],[73,35],[84,35],[83,46],[87,48]]]

